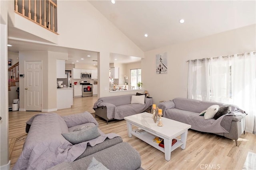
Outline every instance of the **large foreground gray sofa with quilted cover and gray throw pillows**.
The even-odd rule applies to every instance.
[[[28,135],[13,170],[80,170],[99,164],[108,169],[142,169],[138,152],[119,135],[102,133],[87,111],[68,116],[42,113],[26,123]]]

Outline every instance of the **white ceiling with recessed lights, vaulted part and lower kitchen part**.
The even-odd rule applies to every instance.
[[[181,43],[256,23],[256,1],[89,1],[102,15],[118,27],[143,51]],[[179,23],[184,19],[185,23]],[[31,37],[29,33],[9,27],[9,36]],[[147,33],[148,37],[144,37]],[[36,39],[35,39],[36,38]],[[39,37],[33,38],[40,41]],[[42,41],[42,40],[41,40]],[[44,43],[47,43],[44,41]],[[67,64],[97,64],[97,52],[42,45],[8,39],[8,51],[56,51],[68,53]],[[87,57],[91,55],[91,57]],[[84,60],[81,60],[84,58]],[[137,57],[110,54],[122,63],[139,61]],[[115,61],[115,62],[118,62]],[[118,62],[118,63],[119,63]]]

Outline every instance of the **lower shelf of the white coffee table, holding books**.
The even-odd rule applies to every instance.
[[[164,152],[164,148],[159,147],[159,144],[153,141],[153,139],[155,137],[160,137],[160,136],[153,135],[149,132],[144,132],[144,133],[138,134],[138,133],[135,133],[134,131],[131,131],[131,134],[134,135],[135,137],[139,138],[140,140],[148,143],[152,147]],[[164,137],[160,137],[160,138],[164,139]],[[174,138],[174,139],[177,139],[177,138]],[[180,141],[180,139],[177,139],[177,142],[171,146],[171,152],[174,149],[177,149],[178,147],[180,147],[182,144],[183,143]]]

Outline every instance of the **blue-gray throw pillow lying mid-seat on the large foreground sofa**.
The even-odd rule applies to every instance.
[[[100,133],[98,131],[98,127],[93,126],[90,128],[81,129],[80,131],[62,133],[62,136],[74,145],[84,141],[95,139],[96,137],[100,136]]]

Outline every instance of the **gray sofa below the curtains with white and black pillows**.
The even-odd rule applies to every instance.
[[[210,107],[213,105],[217,105],[219,109],[215,109],[216,112],[213,114],[210,113],[212,118],[205,119],[209,115],[203,116],[204,112],[211,110]],[[215,133],[234,139],[236,146],[238,138],[245,132],[246,113],[234,105],[227,107],[219,102],[174,98],[160,103],[158,107],[162,109],[163,117],[189,124],[191,129],[196,131]]]

